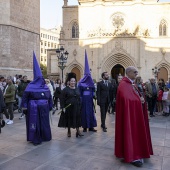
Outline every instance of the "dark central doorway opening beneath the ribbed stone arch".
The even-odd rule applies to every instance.
[[[122,76],[125,75],[125,69],[122,65],[116,64],[111,70],[111,77],[117,81],[118,75],[121,74]]]

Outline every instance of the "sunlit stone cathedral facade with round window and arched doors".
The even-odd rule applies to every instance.
[[[170,77],[170,3],[157,0],[78,0],[63,5],[60,46],[68,52],[64,75],[84,72],[87,51],[92,77],[125,75],[135,66],[144,81]],[[55,51],[48,51],[48,74],[60,74]]]

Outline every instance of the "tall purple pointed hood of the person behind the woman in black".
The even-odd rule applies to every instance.
[[[94,82],[91,77],[91,73],[90,73],[90,69],[89,69],[89,63],[88,63],[86,50],[85,50],[84,77],[82,79],[80,79],[78,85],[82,86],[82,87],[94,87]]]

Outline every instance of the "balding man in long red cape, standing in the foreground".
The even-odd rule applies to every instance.
[[[134,80],[135,67],[126,69],[116,97],[115,155],[141,167],[143,158],[153,155],[146,102]]]

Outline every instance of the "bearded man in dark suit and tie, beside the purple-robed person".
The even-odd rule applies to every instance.
[[[112,86],[111,83],[108,81],[109,74],[107,72],[103,72],[101,77],[103,80],[97,83],[97,104],[100,106],[101,127],[103,128],[103,132],[107,132],[105,120],[108,106],[110,103],[110,91]]]

